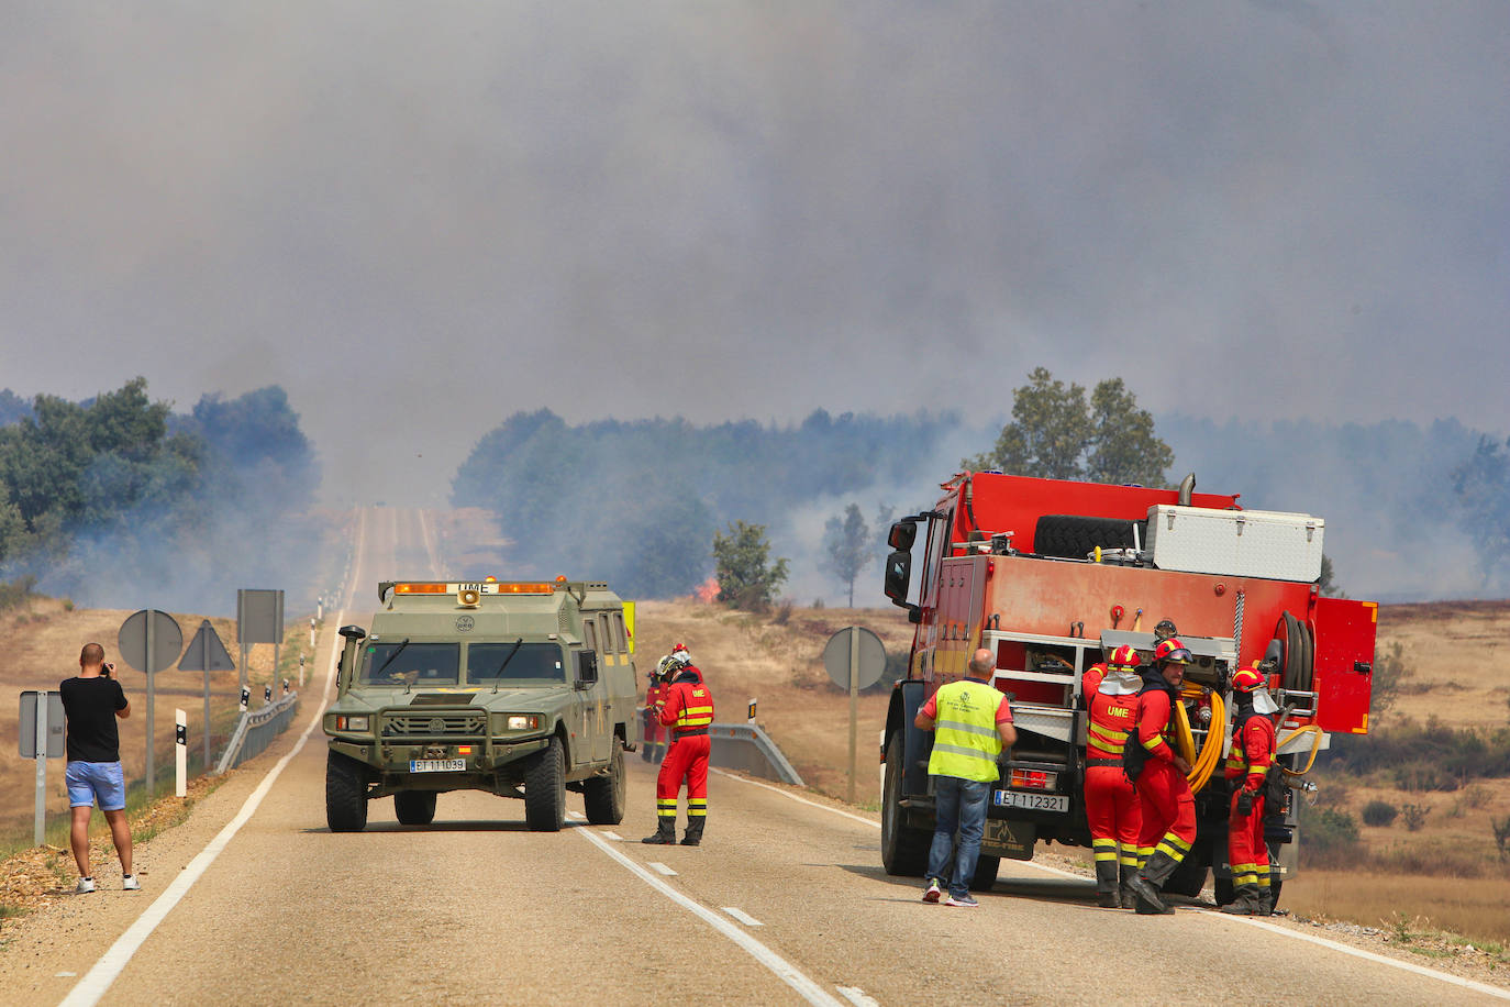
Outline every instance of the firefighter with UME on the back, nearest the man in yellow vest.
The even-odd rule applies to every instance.
[[[1096,904],[1132,909],[1132,874],[1137,871],[1139,826],[1143,812],[1132,781],[1122,771],[1122,749],[1137,723],[1137,651],[1119,646],[1090,694],[1086,725],[1086,818],[1096,855]]]

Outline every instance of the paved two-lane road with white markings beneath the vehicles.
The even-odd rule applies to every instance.
[[[362,621],[364,593],[396,553],[427,554],[412,537],[396,550],[423,527],[412,512],[365,515],[358,608],[343,621]],[[328,631],[328,655],[334,642]],[[1087,879],[1031,865],[1006,864],[980,909],[927,906],[915,883],[880,870],[874,815],[726,774],[711,782],[702,847],[643,845],[654,778],[637,758],[618,829],[578,818],[532,833],[518,800],[448,794],[432,826],[397,824],[385,799],[365,832],[332,835],[323,735],[307,732],[317,705],[140,851],[143,892],[69,898],[48,910],[47,932],[6,948],[0,1001],[56,1004],[71,990],[68,1002],[109,1004],[1490,1001],[1284,927],[1093,909]],[[205,847],[219,850],[213,861]],[[1300,978],[1276,978],[1285,972]]]

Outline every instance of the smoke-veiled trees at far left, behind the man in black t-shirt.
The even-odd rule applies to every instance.
[[[146,380],[88,402],[0,391],[0,577],[89,605],[225,611],[237,587],[299,587],[320,473],[281,388],[204,396]]]

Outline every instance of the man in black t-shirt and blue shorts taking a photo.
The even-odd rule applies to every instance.
[[[79,892],[95,889],[89,871],[89,815],[97,800],[121,858],[121,886],[128,892],[142,888],[131,873],[131,827],[125,821],[125,773],[116,729],[118,717],[131,716],[131,704],[121,682],[112,678],[113,670],[113,664],[104,663],[104,648],[86,643],[79,654],[79,676],[57,687],[68,716],[68,806],[74,815],[68,838],[79,864]]]

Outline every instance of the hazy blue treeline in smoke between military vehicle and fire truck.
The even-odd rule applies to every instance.
[[[772,525],[791,556],[785,533],[803,506],[917,483],[947,467],[941,441],[957,427],[951,415],[823,409],[790,426],[569,426],[548,409],[518,412],[462,463],[451,504],[500,516],[521,563],[510,575],[599,577],[631,596],[673,596],[713,572],[713,533],[729,521]]]

